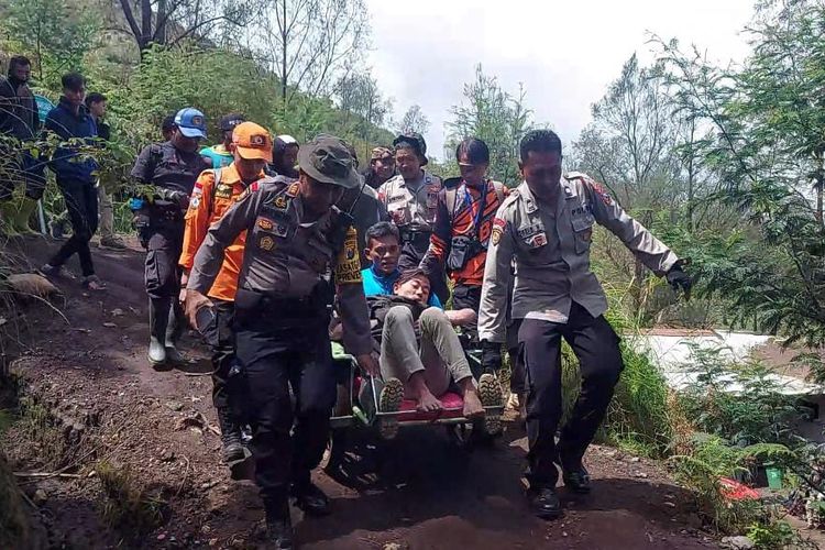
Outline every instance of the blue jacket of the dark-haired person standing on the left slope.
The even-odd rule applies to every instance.
[[[72,105],[66,98],[61,97],[57,107],[46,114],[46,130],[56,133],[62,141],[68,141],[73,138],[96,138],[98,128],[95,119],[89,114],[85,106],[75,114]],[[57,179],[72,179],[94,184],[95,176],[92,172],[98,169],[98,163],[91,158],[80,161],[76,147],[59,146],[52,155],[50,164],[52,170],[57,175]]]

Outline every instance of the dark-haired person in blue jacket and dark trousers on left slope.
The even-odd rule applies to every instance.
[[[106,288],[95,274],[89,241],[98,229],[98,191],[94,158],[79,148],[82,140],[97,136],[95,119],[84,105],[86,80],[82,75],[68,73],[62,78],[63,96],[57,107],[46,116],[45,129],[57,134],[61,144],[55,148],[50,167],[56,175],[57,187],[66,201],[72,238],[61,246],[42,271],[46,275],[59,275],[63,264],[77,254],[82,272],[82,285],[89,290]]]

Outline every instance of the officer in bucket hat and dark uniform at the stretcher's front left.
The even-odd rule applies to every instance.
[[[276,548],[293,547],[290,493],[307,514],[329,512],[310,472],[327,447],[336,398],[328,333],[334,294],[344,345],[362,369],[378,373],[356,231],[352,218],[333,206],[345,189],[360,184],[352,155],[340,139],[323,135],[301,145],[298,164],[297,182],[264,178],[252,184],[209,229],[186,296],[187,317],[197,322],[200,308],[210,306],[205,295],[224,249],[246,231],[235,296],[235,346],[249,394],[255,481]]]

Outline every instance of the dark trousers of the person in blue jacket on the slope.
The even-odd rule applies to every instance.
[[[80,271],[84,277],[95,275],[89,241],[98,230],[98,190],[90,182],[58,178],[57,185],[66,201],[66,209],[72,222],[72,237],[48,263],[58,267],[76,253],[80,260]]]

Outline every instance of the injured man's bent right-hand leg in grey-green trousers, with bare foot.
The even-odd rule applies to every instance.
[[[421,314],[419,322],[421,363],[430,391],[441,396],[450,387],[451,380],[455,381],[464,397],[464,415],[484,414],[466,355],[447,315],[441,309],[429,308]]]

